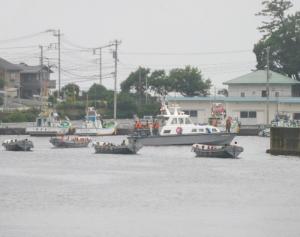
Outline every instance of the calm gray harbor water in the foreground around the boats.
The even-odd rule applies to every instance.
[[[300,234],[300,158],[266,154],[267,138],[238,137],[237,160],[194,158],[189,146],[118,156],[32,140],[33,152],[0,151],[1,237]]]

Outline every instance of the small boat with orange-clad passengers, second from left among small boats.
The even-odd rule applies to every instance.
[[[50,143],[57,148],[83,148],[88,147],[90,142],[89,137],[62,136],[50,138]]]

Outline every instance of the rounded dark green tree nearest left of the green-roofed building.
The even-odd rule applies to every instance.
[[[172,91],[179,92],[183,96],[207,96],[211,88],[211,81],[203,79],[201,71],[191,66],[172,69],[169,80]]]

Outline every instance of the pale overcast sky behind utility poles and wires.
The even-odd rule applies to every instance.
[[[0,57],[13,63],[52,66],[57,79],[60,29],[62,85],[99,82],[93,48],[120,40],[118,84],[139,66],[151,70],[198,67],[220,89],[224,81],[251,72],[261,38],[261,0],[9,0],[1,1]],[[292,11],[300,1],[292,1]],[[25,37],[26,36],[26,37]],[[102,53],[103,85],[113,89],[112,49]]]

